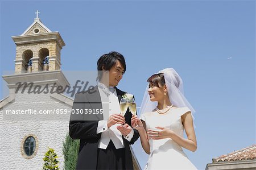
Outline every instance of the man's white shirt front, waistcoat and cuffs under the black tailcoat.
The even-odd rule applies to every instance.
[[[113,93],[109,91],[109,88],[106,87],[104,84],[99,83],[98,90],[100,92],[101,102],[102,102],[102,109],[103,109],[103,121],[98,122],[97,127],[97,134],[101,134],[101,139],[98,144],[98,148],[106,149],[110,142],[110,139],[114,143],[115,148],[124,148],[123,139],[121,132],[117,129],[117,126],[121,124],[115,124],[108,128],[107,122],[109,116],[112,114],[119,114],[121,113],[120,105],[118,101],[118,96],[115,88],[113,88]],[[134,130],[132,129],[131,132],[125,136],[125,139],[129,142],[131,138],[133,138]]]

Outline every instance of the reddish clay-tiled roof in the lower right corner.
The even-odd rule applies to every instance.
[[[213,158],[213,163],[222,161],[236,161],[236,160],[252,160],[256,159],[256,144],[243,148],[242,150],[234,151],[227,155],[221,155]]]

